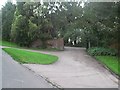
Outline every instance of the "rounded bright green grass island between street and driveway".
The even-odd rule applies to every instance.
[[[52,64],[58,60],[57,56],[42,54],[38,52],[30,52],[14,48],[3,48],[3,50],[20,63]]]

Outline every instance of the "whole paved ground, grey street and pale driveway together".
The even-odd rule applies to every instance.
[[[61,52],[28,51],[53,54],[59,60],[50,65],[24,64],[35,72],[34,75],[2,52],[3,87],[51,87],[43,78],[36,76],[40,75],[62,88],[118,88],[118,79],[89,56],[84,48],[65,47]]]

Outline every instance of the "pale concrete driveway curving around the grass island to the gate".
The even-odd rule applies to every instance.
[[[84,48],[66,47],[65,51],[60,52],[38,52],[57,55],[59,60],[51,65],[24,64],[24,66],[60,87],[118,88],[118,80],[87,55]]]

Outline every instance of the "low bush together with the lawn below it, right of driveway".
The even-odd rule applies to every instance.
[[[117,51],[110,48],[93,47],[88,49],[88,53],[107,66],[112,72],[120,76],[120,62]]]

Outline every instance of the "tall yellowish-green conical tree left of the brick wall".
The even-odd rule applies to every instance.
[[[18,2],[14,13],[14,21],[11,29],[11,41],[20,46],[29,46],[31,38],[29,38],[29,19],[26,13],[25,2]]]

